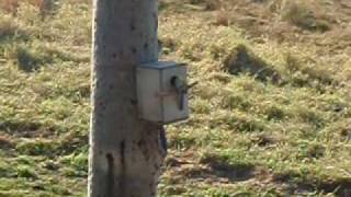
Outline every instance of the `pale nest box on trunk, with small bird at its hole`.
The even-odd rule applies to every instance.
[[[189,118],[186,66],[158,61],[137,68],[139,116],[149,121],[174,123]]]

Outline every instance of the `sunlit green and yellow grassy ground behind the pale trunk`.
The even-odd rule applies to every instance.
[[[0,2],[0,196],[84,196],[91,5]],[[160,196],[348,196],[350,10],[162,0],[161,56],[200,83]]]

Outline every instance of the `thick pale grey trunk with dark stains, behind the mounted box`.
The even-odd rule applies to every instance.
[[[157,0],[94,0],[93,8],[88,196],[156,196],[162,126],[138,118],[135,71],[158,60]]]

